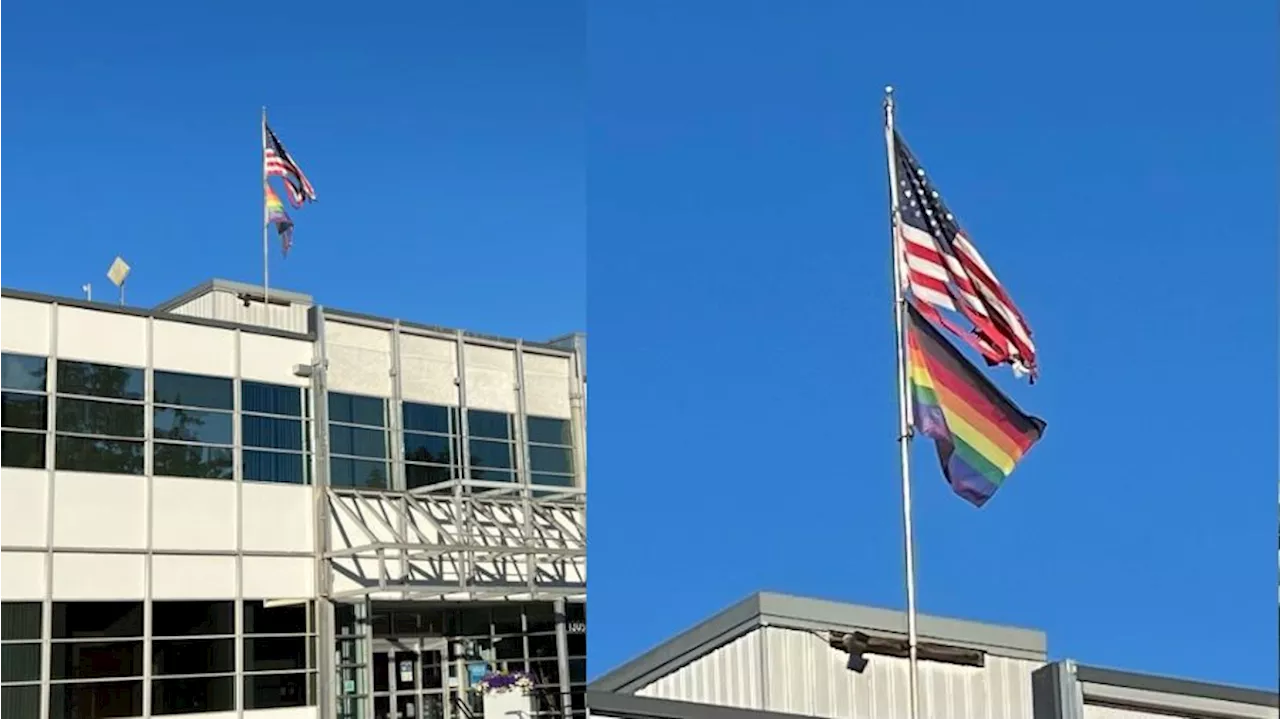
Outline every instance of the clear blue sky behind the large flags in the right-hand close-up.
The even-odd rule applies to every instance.
[[[916,448],[920,608],[1276,686],[1271,3],[589,17],[599,674],[758,589],[904,606],[881,88],[1037,331],[982,510]]]

